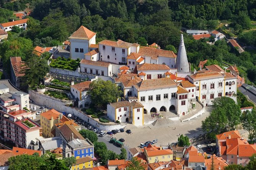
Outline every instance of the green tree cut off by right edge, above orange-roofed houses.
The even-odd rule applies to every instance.
[[[248,138],[252,141],[256,136],[256,111],[243,112],[241,116],[243,129],[249,132]]]

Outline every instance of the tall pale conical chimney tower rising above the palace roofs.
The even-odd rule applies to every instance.
[[[187,53],[184,45],[183,34],[181,34],[181,42],[179,43],[178,56],[176,59],[177,72],[190,72]]]

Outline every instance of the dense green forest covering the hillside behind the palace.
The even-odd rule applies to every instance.
[[[15,19],[13,11],[32,11],[28,30],[12,31],[9,41],[0,44],[5,62],[14,55],[26,60],[36,45],[61,44],[80,25],[97,32],[97,42],[121,39],[144,46],[155,42],[161,49],[175,51],[183,27],[221,31],[221,23],[228,23],[239,42],[252,50],[239,54],[225,40],[209,45],[207,40],[184,35],[188,60],[196,69],[204,59],[236,64],[241,76],[248,74],[256,83],[256,30],[251,29],[256,0],[0,0],[0,6],[0,23]]]

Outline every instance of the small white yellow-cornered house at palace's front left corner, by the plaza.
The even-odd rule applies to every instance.
[[[137,101],[119,101],[107,105],[109,119],[130,122],[135,126],[144,124],[143,105]]]

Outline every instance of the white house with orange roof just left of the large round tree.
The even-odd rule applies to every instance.
[[[88,104],[91,103],[91,98],[87,95],[87,91],[89,89],[89,85],[91,84],[90,81],[77,83],[70,87],[70,91],[78,100],[78,107],[86,107]]]

